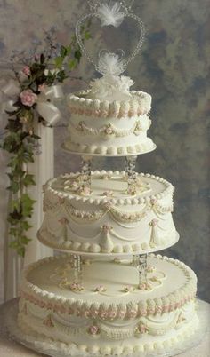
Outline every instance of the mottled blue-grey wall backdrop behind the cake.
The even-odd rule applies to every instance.
[[[166,254],[180,258],[198,274],[198,296],[209,300],[209,0],[136,0],[135,12],[147,27],[141,56],[128,68],[135,88],[153,97],[149,135],[158,149],[141,155],[138,170],[157,174],[176,187],[174,220],[181,240]],[[12,49],[30,47],[43,29],[58,28],[58,40],[68,44],[77,19],[88,11],[85,0],[0,0],[0,60]],[[119,38],[95,33],[90,50],[101,43],[134,45],[134,28],[124,27]],[[93,67],[82,60],[79,75],[90,78]],[[70,81],[70,91],[84,83]],[[63,122],[68,114],[63,115]],[[55,132],[56,174],[77,170],[74,156],[62,152],[65,128]],[[96,160],[94,165],[122,168],[123,161]],[[163,252],[165,254],[165,251]]]

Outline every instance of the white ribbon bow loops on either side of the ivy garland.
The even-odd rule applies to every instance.
[[[10,79],[9,81],[0,81],[0,115],[3,117],[5,111],[12,112],[16,109],[14,107],[14,100],[20,94],[20,85],[18,82]],[[53,103],[54,99],[61,99],[63,97],[63,92],[61,85],[52,85],[46,87],[41,94],[39,94],[37,99],[36,110],[39,115],[41,115],[46,126],[53,126],[58,123],[61,119],[61,112]],[[9,99],[8,99],[9,98]],[[2,119],[0,117],[0,119]]]

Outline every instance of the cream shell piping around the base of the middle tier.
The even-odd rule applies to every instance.
[[[173,240],[173,242],[169,241],[170,237],[166,237],[165,239],[165,243],[162,242],[160,246],[156,245],[155,247],[150,247],[149,243],[147,242],[143,242],[141,244],[138,243],[129,243],[127,242],[126,244],[116,244],[114,246],[114,248],[111,251],[107,251],[105,252],[103,250],[103,248],[101,247],[100,244],[96,244],[96,243],[83,243],[83,242],[72,242],[72,241],[62,241],[62,242],[58,242],[58,238],[55,235],[52,235],[50,232],[48,231],[42,231],[42,229],[39,229],[39,231],[37,232],[37,238],[39,240],[39,242],[43,243],[44,245],[52,248],[52,249],[56,249],[56,250],[66,250],[66,251],[72,251],[74,253],[77,254],[100,254],[100,255],[114,255],[114,254],[145,254],[148,251],[157,251],[157,250],[163,250],[166,249],[168,247],[171,247],[172,245],[174,245],[176,242],[179,241],[179,237],[180,235],[178,234],[178,232],[176,232],[175,234],[175,238]],[[48,236],[48,240],[46,240],[44,237]],[[56,239],[57,241],[54,242],[54,239]],[[164,245],[165,244],[165,245]]]

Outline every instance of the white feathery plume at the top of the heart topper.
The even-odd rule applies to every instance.
[[[114,4],[101,4],[97,10],[97,14],[101,20],[101,26],[112,25],[118,28],[124,20],[125,13],[121,10],[121,5]]]

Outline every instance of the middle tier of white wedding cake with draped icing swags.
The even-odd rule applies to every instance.
[[[137,174],[136,194],[127,192],[125,171],[94,171],[91,191],[80,173],[52,178],[44,187],[45,245],[78,254],[135,254],[163,250],[177,242],[172,211],[174,186]]]

